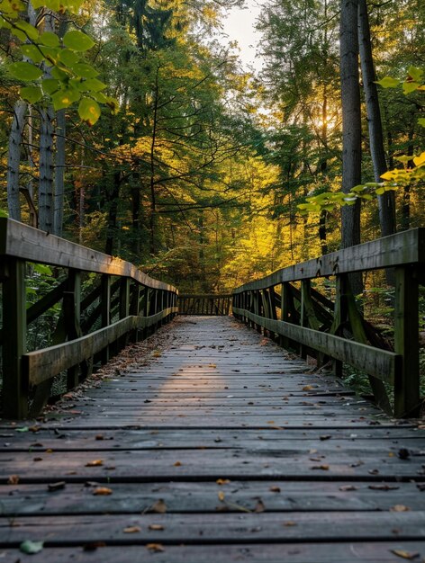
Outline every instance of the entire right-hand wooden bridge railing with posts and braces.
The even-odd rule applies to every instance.
[[[416,228],[339,250],[278,270],[233,292],[233,315],[278,339],[285,347],[342,362],[369,376],[375,402],[394,416],[415,416],[420,408],[419,285],[425,282],[425,228]],[[349,276],[393,269],[393,347],[357,308]],[[312,280],[336,281],[335,299]],[[393,407],[384,383],[393,386]]]

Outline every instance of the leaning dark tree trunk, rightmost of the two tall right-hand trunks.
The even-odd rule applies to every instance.
[[[375,182],[382,182],[381,175],[387,171],[384,151],[384,134],[378,91],[375,84],[375,67],[370,38],[369,17],[366,0],[358,0],[358,43],[366,99],[367,125]],[[395,199],[393,192],[378,196],[379,222],[381,235],[386,237],[395,233]]]

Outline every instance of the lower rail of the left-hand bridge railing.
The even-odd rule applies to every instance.
[[[50,380],[60,371],[92,357],[134,328],[153,326],[158,320],[174,312],[176,312],[175,308],[168,308],[151,317],[126,317],[71,342],[23,354],[24,373],[32,385]]]

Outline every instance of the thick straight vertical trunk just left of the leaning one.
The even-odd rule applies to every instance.
[[[341,0],[340,73],[342,102],[342,191],[361,183],[361,112],[358,75],[357,0]],[[342,208],[342,248],[360,243],[360,201]],[[355,294],[361,275],[351,279]]]

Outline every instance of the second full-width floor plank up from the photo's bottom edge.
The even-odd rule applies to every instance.
[[[158,494],[160,498],[160,493]],[[39,516],[37,519],[22,516],[19,526],[11,526],[8,519],[0,521],[0,533],[8,541],[44,541],[50,546],[76,546],[91,541],[121,545],[137,543],[180,542],[238,543],[248,542],[315,542],[315,541],[411,541],[423,538],[425,513],[299,513],[293,512],[294,525],[285,526],[287,517],[276,518],[273,513],[240,514],[103,514],[85,517]],[[152,523],[163,529],[149,530]],[[140,532],[124,530],[137,527]],[[72,533],[70,533],[72,529]],[[393,532],[397,529],[397,532]]]

